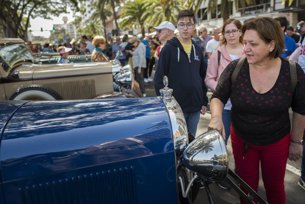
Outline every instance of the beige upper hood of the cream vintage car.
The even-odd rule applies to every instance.
[[[41,78],[62,78],[77,75],[97,75],[112,74],[112,64],[110,62],[97,63],[75,63],[75,64],[23,64],[17,69],[21,78],[27,75],[33,80]]]

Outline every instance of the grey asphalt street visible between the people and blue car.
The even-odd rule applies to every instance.
[[[152,78],[153,76],[154,76],[154,71],[152,73]],[[145,83],[145,90],[147,93],[147,97],[156,96],[153,82]],[[212,92],[208,91],[207,95],[210,101]],[[289,113],[290,113],[290,119],[292,119],[292,111],[290,110]],[[211,119],[211,114],[210,114],[210,103],[209,103],[207,113],[205,115],[202,114],[200,115],[196,137],[207,131],[207,126],[210,122],[210,119]],[[232,155],[231,140],[228,140],[227,151],[229,157],[229,168],[234,169],[234,158]],[[305,203],[305,191],[298,185],[298,181],[301,175],[300,169],[301,169],[300,159],[298,161],[290,161],[288,159],[286,174],[285,174],[285,191],[286,191],[287,204]],[[219,204],[240,203],[239,195],[233,189],[230,190],[222,189],[216,183],[210,184],[209,187],[215,203],[219,203]],[[267,201],[261,173],[260,173],[258,193],[263,199]],[[199,190],[199,194],[196,200],[194,201],[194,204],[200,204],[200,203],[209,203],[205,189]]]

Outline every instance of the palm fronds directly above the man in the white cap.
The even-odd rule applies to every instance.
[[[177,14],[182,10],[182,1],[179,0],[147,0],[147,14],[145,23],[157,25],[162,21],[170,21],[173,24],[177,22]]]

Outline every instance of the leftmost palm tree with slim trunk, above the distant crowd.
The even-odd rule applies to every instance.
[[[102,4],[99,5],[99,3],[102,3]],[[91,16],[91,19],[102,21],[102,25],[103,25],[103,28],[104,28],[104,36],[106,37],[106,35],[107,35],[106,19],[107,19],[107,16],[111,16],[112,12],[108,8],[108,6],[105,5],[105,2],[94,1],[91,4],[91,6],[95,10],[94,13]]]

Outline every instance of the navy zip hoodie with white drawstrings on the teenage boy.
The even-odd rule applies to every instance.
[[[190,60],[176,37],[162,48],[154,78],[157,96],[164,88],[164,75],[168,77],[168,87],[174,90],[173,96],[183,112],[200,111],[202,106],[207,106],[203,52],[193,40]]]

